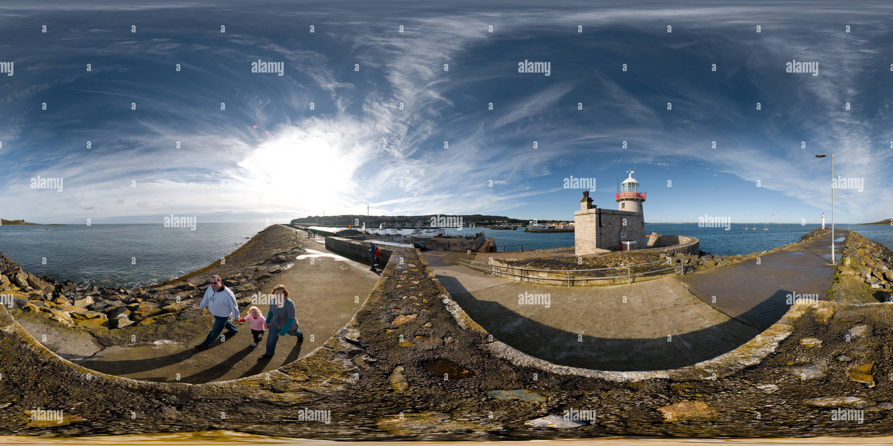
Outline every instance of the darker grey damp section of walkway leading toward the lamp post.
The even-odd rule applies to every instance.
[[[837,257],[844,237],[837,235]],[[787,295],[818,294],[824,300],[837,267],[830,262],[831,235],[722,268],[677,276],[701,301],[749,326],[764,330],[789,310]],[[715,296],[715,301],[714,301]]]

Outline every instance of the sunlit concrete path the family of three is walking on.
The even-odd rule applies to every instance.
[[[271,359],[258,361],[266,350],[267,333],[264,332],[260,343],[251,346],[253,337],[246,322],[238,325],[237,335],[225,336],[222,342],[218,339],[205,351],[193,348],[207,336],[202,332],[184,343],[157,340],[106,347],[79,364],[98,372],[141,381],[200,384],[257,375],[304,357],[346,325],[379,276],[369,271],[368,265],[326,250],[321,236],[306,239],[304,233],[299,237],[305,253],[297,256],[293,266],[266,285],[263,293],[271,293],[275,285],[286,285],[288,297],[295,301],[299,329],[305,334],[304,343],[297,343],[293,336],[282,336],[276,354]],[[205,277],[201,278],[204,280]],[[266,316],[269,305],[258,304],[256,307]],[[246,314],[247,308],[242,310],[241,316]],[[205,313],[203,318],[212,317]],[[37,332],[29,328],[29,333]]]

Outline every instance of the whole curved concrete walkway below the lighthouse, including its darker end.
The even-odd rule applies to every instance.
[[[555,364],[610,371],[680,368],[734,350],[781,318],[786,294],[822,299],[834,273],[830,235],[767,253],[759,265],[613,286],[515,282],[444,261],[444,253],[424,256],[453,299],[498,340]],[[530,294],[539,303],[527,304]]]

